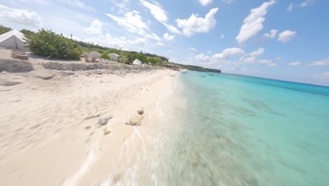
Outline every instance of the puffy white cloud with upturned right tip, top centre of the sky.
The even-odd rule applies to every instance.
[[[183,35],[190,37],[193,33],[209,32],[216,25],[214,15],[218,8],[212,8],[205,18],[200,18],[194,13],[188,19],[176,19],[177,26],[183,30]]]

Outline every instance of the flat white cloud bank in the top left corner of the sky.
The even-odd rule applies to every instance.
[[[0,4],[0,18],[22,25],[42,27],[41,17],[36,12],[25,9],[9,8]]]

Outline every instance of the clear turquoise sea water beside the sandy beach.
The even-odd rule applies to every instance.
[[[329,87],[192,71],[179,82],[157,185],[329,185]]]

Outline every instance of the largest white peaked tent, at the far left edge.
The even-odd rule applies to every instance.
[[[0,35],[0,46],[7,49],[27,50],[25,36],[18,30],[11,30]]]

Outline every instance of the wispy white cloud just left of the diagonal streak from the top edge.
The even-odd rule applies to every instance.
[[[115,20],[118,25],[124,27],[129,32],[138,33],[139,35],[146,34],[148,26],[143,22],[138,11],[124,13],[124,17],[113,16],[110,13],[107,13],[106,15]]]

